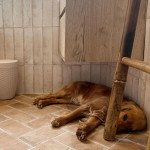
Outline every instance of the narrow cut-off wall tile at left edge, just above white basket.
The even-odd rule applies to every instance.
[[[0,29],[0,59],[5,58],[5,50],[4,50],[4,30]]]

